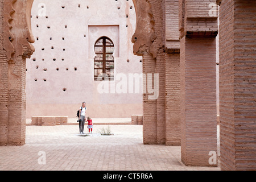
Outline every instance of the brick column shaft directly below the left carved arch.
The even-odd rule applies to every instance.
[[[22,146],[26,138],[26,60],[9,63],[8,144]]]

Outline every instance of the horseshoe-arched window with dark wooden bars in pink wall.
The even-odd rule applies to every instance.
[[[103,36],[94,45],[94,80],[114,80],[114,44]]]

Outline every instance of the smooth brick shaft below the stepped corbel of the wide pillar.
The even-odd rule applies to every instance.
[[[209,166],[217,152],[216,41],[181,40],[181,158],[186,165]]]

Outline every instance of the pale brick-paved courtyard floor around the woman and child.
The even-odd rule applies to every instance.
[[[99,134],[102,127],[81,137],[77,125],[27,126],[24,146],[0,147],[0,170],[220,170],[184,166],[180,147],[144,145],[141,125],[111,125],[110,136]]]

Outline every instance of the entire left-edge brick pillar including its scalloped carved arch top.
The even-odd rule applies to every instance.
[[[26,58],[34,52],[32,3],[33,0],[0,1],[0,145],[25,143]]]

